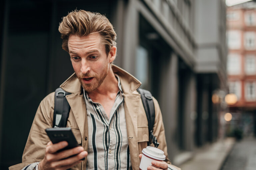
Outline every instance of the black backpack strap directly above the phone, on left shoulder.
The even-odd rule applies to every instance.
[[[66,95],[71,93],[64,91],[62,88],[55,90],[54,97],[54,114],[53,114],[53,127],[66,127],[69,116],[70,106],[66,99]]]

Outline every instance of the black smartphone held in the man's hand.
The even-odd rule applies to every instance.
[[[63,149],[58,150],[58,152],[80,146],[77,143],[77,140],[76,140],[71,128],[47,128],[47,129],[45,129],[45,131],[53,144],[59,143],[61,141],[68,142],[68,146],[66,146]],[[84,160],[84,158],[81,160]]]

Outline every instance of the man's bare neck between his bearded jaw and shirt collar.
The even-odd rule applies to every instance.
[[[109,95],[110,93],[117,93],[118,90],[118,81],[115,77],[112,67],[109,66],[108,74],[101,83],[101,85],[97,89],[91,92],[87,92],[87,94],[90,98],[95,98],[99,95]]]

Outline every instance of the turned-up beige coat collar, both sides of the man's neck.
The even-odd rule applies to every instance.
[[[124,93],[132,93],[140,87],[141,82],[127,71],[114,64],[112,64],[112,70],[120,77]],[[82,92],[81,83],[75,73],[73,73],[66,81],[64,81],[60,87],[70,93]]]

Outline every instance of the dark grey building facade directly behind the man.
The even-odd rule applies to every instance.
[[[113,24],[114,64],[158,100],[174,164],[218,139],[223,108],[212,95],[226,88],[224,0],[12,0],[1,20],[1,169],[21,161],[38,104],[73,73],[58,23],[76,8]]]

